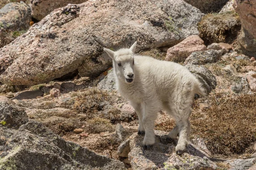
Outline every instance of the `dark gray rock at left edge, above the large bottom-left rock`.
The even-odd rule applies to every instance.
[[[17,129],[20,127],[20,125],[23,125],[28,121],[28,116],[23,109],[17,107],[17,105],[14,105],[13,102],[10,102],[7,98],[0,98],[1,125],[4,127],[12,127]]]

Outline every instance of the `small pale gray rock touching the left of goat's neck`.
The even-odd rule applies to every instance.
[[[104,90],[115,90],[116,89],[116,79],[115,79],[115,74],[113,71],[113,68],[110,70],[106,71],[107,75],[105,76],[102,74],[99,76],[99,82],[98,82],[98,87]]]

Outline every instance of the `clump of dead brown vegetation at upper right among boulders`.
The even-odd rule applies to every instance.
[[[199,36],[206,45],[213,42],[232,44],[240,29],[240,19],[234,11],[223,14],[207,14],[198,23]]]

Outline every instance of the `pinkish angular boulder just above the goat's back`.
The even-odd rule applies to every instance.
[[[207,48],[204,45],[204,41],[198,35],[192,35],[169,48],[166,54],[166,60],[184,62],[192,52],[205,50]]]

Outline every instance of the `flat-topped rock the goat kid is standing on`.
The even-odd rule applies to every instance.
[[[178,156],[175,153],[176,144],[167,140],[168,133],[158,130],[155,130],[155,133],[156,143],[149,150],[143,150],[144,136],[137,133],[131,136],[131,152],[128,156],[134,170],[214,170],[217,168],[217,165],[209,160],[209,155],[195,145],[189,144],[186,153]]]

